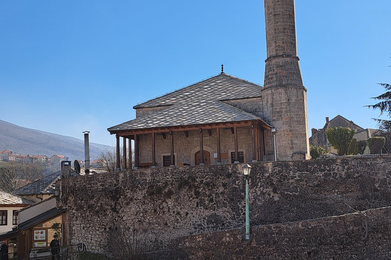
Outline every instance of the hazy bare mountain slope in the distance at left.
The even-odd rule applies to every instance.
[[[97,158],[106,145],[90,143],[90,159]],[[84,141],[35,129],[21,127],[0,120],[0,151],[11,150],[13,153],[68,156],[70,160],[84,160]]]

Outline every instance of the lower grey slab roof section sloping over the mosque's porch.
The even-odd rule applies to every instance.
[[[212,100],[181,102],[173,106],[168,106],[163,110],[110,127],[107,131],[110,134],[114,134],[136,129],[241,121],[260,121],[262,124],[269,126],[269,124],[256,115],[247,113],[221,101]]]

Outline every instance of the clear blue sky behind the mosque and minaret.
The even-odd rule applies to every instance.
[[[391,83],[391,1],[296,0],[309,127],[362,106]],[[0,0],[0,119],[90,141],[132,107],[220,72],[263,84],[263,1]],[[310,132],[311,133],[311,132]]]

